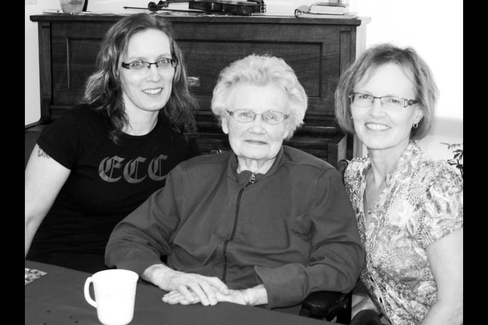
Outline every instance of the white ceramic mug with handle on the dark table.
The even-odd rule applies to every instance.
[[[104,325],[126,325],[134,317],[134,303],[139,276],[129,270],[105,270],[85,281],[85,299],[97,308],[98,320]],[[93,282],[95,301],[90,296]]]

